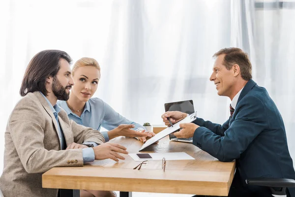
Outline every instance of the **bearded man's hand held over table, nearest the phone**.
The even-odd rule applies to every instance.
[[[118,153],[128,154],[126,147],[116,143],[105,143],[93,147],[95,160],[112,159],[118,162],[118,159],[125,160],[125,158]]]

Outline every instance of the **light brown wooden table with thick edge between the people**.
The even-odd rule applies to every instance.
[[[117,137],[111,142],[124,145],[129,153],[137,153],[142,146],[139,140],[126,137]],[[133,169],[141,162],[135,162],[128,155],[125,155],[125,160],[118,163],[107,159],[96,160],[83,167],[54,167],[42,175],[42,187],[228,195],[234,177],[235,162],[219,162],[193,144],[170,141],[168,136],[141,153],[152,152],[186,152],[195,160],[167,161],[165,172],[161,167],[161,161],[148,161],[140,170]]]

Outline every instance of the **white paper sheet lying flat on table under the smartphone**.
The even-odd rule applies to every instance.
[[[141,153],[138,153],[141,154]],[[163,158],[165,160],[194,160],[195,158],[191,157],[187,153],[179,152],[179,153],[148,153],[152,159],[139,159],[136,153],[129,153],[128,155],[136,162],[141,161],[162,161]]]

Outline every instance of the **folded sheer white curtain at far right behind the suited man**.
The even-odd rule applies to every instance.
[[[280,110],[295,159],[295,0],[231,0],[231,8],[231,46],[250,55],[253,79]]]

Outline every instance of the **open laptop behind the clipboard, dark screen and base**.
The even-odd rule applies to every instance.
[[[193,100],[183,100],[183,101],[165,103],[165,112],[167,111],[181,111],[183,113],[192,114],[195,112]],[[180,129],[177,131],[180,131]],[[169,138],[171,141],[193,143],[192,137],[177,138],[173,133],[169,134]]]

